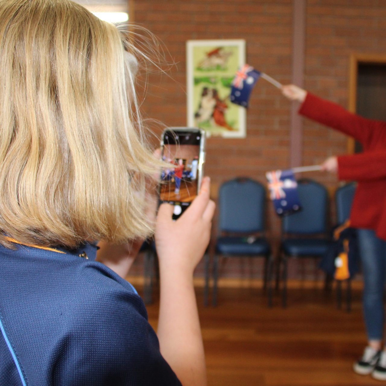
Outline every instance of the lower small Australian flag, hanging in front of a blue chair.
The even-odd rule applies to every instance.
[[[298,183],[291,169],[274,170],[266,173],[268,189],[279,216],[288,215],[301,209]]]

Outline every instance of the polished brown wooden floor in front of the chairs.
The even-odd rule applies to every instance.
[[[196,292],[210,386],[382,384],[352,371],[366,342],[358,289],[350,313],[323,289],[290,289],[287,309],[268,309],[260,289],[220,288],[217,308]],[[158,303],[147,308],[156,328]]]

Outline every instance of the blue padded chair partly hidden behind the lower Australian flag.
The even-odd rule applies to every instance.
[[[327,189],[316,181],[301,179],[298,181],[298,194],[302,209],[283,217],[282,221],[276,286],[281,270],[283,307],[287,305],[288,258],[322,257],[330,243]]]

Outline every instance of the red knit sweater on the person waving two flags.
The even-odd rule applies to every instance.
[[[358,182],[350,223],[386,240],[386,122],[359,117],[310,93],[299,113],[361,142],[363,153],[338,157],[339,179]]]

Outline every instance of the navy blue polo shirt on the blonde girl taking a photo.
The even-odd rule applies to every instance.
[[[0,245],[0,385],[181,385],[140,296],[94,245],[15,247]]]

